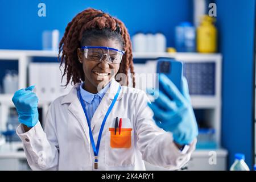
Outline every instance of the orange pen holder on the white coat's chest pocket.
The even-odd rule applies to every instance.
[[[122,128],[119,134],[119,128],[115,133],[114,128],[109,128],[110,131],[110,146],[112,148],[130,148],[131,147],[131,130]]]

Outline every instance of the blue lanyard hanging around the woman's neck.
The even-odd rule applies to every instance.
[[[87,120],[87,124],[88,124],[88,127],[89,127],[90,142],[92,143],[92,148],[93,148],[94,156],[98,156],[98,150],[100,148],[102,131],[104,129],[104,125],[105,125],[106,119],[108,118],[109,113],[110,113],[110,111],[112,110],[112,108],[113,108],[113,106],[115,104],[115,101],[117,101],[117,97],[119,95],[120,90],[121,90],[121,86],[119,86],[119,88],[117,90],[117,93],[115,94],[114,99],[113,99],[111,105],[109,106],[109,109],[106,112],[106,115],[105,115],[105,117],[104,117],[104,119],[103,119],[103,121],[101,123],[101,129],[100,129],[100,133],[98,134],[98,140],[97,140],[97,146],[96,147],[95,147],[95,143],[94,143],[94,139],[93,139],[92,129],[90,128],[89,118],[88,118],[88,115],[86,113],[85,104],[82,101],[82,96],[81,96],[81,93],[80,93],[80,90],[79,90],[79,98],[80,98],[82,109],[84,110],[84,114],[85,114],[85,117],[86,117],[86,120]]]

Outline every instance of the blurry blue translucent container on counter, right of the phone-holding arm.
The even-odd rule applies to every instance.
[[[216,149],[216,131],[215,129],[199,129],[197,136],[196,149]]]

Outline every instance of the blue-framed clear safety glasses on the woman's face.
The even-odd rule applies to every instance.
[[[83,46],[81,47],[86,59],[101,62],[107,60],[108,63],[121,63],[125,51],[120,51],[111,47]]]

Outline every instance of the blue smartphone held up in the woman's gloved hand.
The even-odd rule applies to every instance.
[[[156,59],[156,73],[164,73],[181,92],[181,78],[183,76],[183,63],[169,57],[159,57]],[[159,90],[164,92],[159,85]]]

